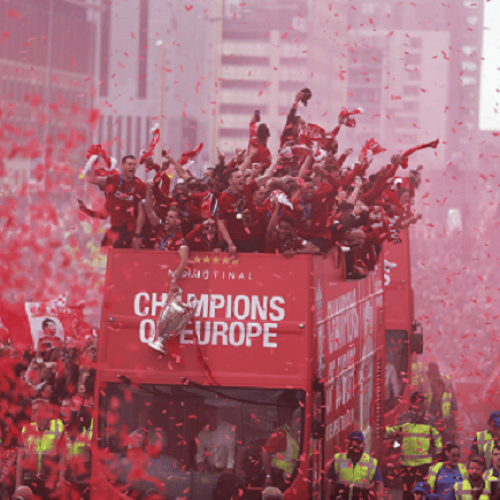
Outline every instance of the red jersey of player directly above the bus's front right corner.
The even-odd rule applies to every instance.
[[[301,238],[329,239],[327,221],[334,197],[332,185],[324,182],[314,192],[311,201],[304,201],[302,197],[294,200],[293,211],[297,221],[297,232]]]

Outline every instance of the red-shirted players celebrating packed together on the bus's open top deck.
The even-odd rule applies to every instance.
[[[337,134],[342,126],[355,126],[359,110],[343,108],[331,132],[306,123],[297,111],[307,104],[303,89],[287,116],[275,158],[268,148],[269,128],[255,112],[249,142],[218,163],[201,179],[186,164],[202,145],[176,161],[163,151],[162,164],[153,161],[151,147],[138,160],[127,155],[116,170],[100,145],[87,154],[86,180],[105,198],[93,210],[80,200],[79,208],[91,217],[110,220],[104,246],[178,251],[181,264],[172,279],[176,286],[189,250],[238,253],[265,252],[290,257],[300,253],[345,252],[347,277],[358,279],[374,267],[385,240],[398,241],[398,230],[414,224],[412,211],[421,166],[397,178],[408,166],[410,154],[438,141],[393,155],[389,164],[367,174],[374,156],[385,151],[374,139],[366,141],[352,166],[345,162],[352,149],[339,153]],[[158,142],[157,134],[153,135]],[[144,183],[136,177],[139,163],[154,170]],[[177,182],[173,185],[175,177]]]

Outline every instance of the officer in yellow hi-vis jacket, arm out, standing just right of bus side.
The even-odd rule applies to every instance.
[[[401,479],[403,500],[412,500],[412,490],[416,482],[424,481],[434,454],[443,449],[439,431],[434,422],[424,413],[425,395],[414,392],[410,397],[410,407],[403,413],[394,427],[386,428],[386,435],[401,439]]]

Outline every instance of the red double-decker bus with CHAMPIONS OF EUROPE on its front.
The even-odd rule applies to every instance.
[[[350,432],[363,431],[366,451],[383,449],[382,263],[346,281],[340,253],[193,253],[180,285],[196,313],[167,355],[149,344],[177,260],[154,251],[108,255],[92,498],[155,488],[168,499],[209,500],[227,478],[221,468],[242,477],[243,499],[260,498],[262,449],[282,423],[283,401],[299,448],[285,498],[324,498],[325,471]],[[200,470],[210,419],[230,444],[219,464]]]

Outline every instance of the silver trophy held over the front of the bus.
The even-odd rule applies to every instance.
[[[193,317],[198,305],[196,301],[192,301],[189,305],[184,304],[180,299],[181,293],[182,290],[178,288],[168,294],[165,307],[156,320],[154,339],[149,342],[150,347],[163,354],[166,354],[167,340],[173,335],[179,335]]]

